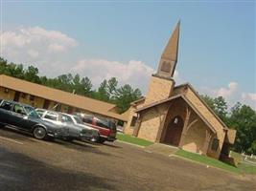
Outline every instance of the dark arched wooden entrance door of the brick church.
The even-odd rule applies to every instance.
[[[179,116],[173,117],[166,127],[164,143],[178,146],[181,138],[183,126],[184,126],[184,121],[181,117]]]

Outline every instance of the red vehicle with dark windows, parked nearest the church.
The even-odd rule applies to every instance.
[[[98,142],[114,141],[116,139],[116,124],[104,117],[94,117],[83,114],[76,114],[76,116],[81,117],[81,120],[90,127],[98,129],[100,133],[100,138]]]

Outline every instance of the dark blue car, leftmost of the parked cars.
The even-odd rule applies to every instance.
[[[58,138],[61,134],[60,127],[43,121],[32,106],[11,100],[0,102],[0,123],[29,132],[38,139]]]

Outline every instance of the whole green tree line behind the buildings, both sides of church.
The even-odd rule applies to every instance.
[[[38,69],[34,66],[24,68],[22,64],[8,63],[6,59],[1,57],[0,74],[7,74],[65,92],[110,102],[118,106],[119,113],[127,111],[130,102],[142,96],[139,89],[133,89],[128,84],[119,86],[115,77],[103,80],[97,89],[93,89],[91,80],[86,76],[81,77],[79,74],[61,74],[54,78],[40,76]],[[233,149],[237,152],[244,151],[247,154],[256,154],[256,112],[239,102],[229,111],[222,96],[213,98],[204,95],[201,97],[229,128],[237,130]]]

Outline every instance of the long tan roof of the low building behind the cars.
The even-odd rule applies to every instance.
[[[116,119],[127,121],[127,118],[119,115],[114,111],[116,105],[96,100],[86,96],[78,96],[54,88],[35,84],[29,81],[21,80],[5,74],[0,75],[0,86],[9,88],[21,93],[46,98],[58,103],[66,104],[72,107],[80,108],[105,117],[113,117]]]

